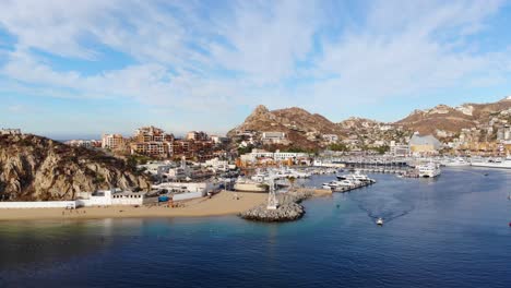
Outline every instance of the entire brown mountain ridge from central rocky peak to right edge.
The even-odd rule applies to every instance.
[[[406,143],[415,131],[420,134],[432,134],[443,141],[452,141],[460,136],[462,129],[475,129],[476,132],[471,137],[477,137],[476,134],[480,132],[478,137],[496,140],[497,131],[509,123],[511,123],[511,96],[488,104],[470,103],[459,107],[438,105],[431,109],[415,110],[406,118],[392,123],[356,117],[334,123],[301,108],[270,111],[261,105],[227,135],[236,137],[239,132],[253,131],[254,145],[259,146],[263,143],[261,142],[263,132],[284,132],[288,145],[319,148],[336,142],[325,135],[335,134],[349,148],[360,148],[389,145],[392,141]]]

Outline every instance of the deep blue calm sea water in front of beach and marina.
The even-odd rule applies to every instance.
[[[0,223],[0,287],[511,287],[511,171],[372,177],[288,224]]]

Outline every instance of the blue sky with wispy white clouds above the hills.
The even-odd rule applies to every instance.
[[[0,127],[225,133],[255,106],[396,121],[511,95],[511,1],[0,0]]]

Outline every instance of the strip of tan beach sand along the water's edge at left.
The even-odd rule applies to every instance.
[[[238,195],[238,199],[235,195]],[[74,211],[62,208],[0,209],[0,220],[36,219],[95,219],[141,217],[201,217],[233,215],[247,211],[266,201],[265,193],[223,191],[211,199],[201,197],[179,202],[182,207],[167,205],[82,207]]]

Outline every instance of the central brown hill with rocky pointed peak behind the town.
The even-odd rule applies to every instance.
[[[316,147],[322,134],[342,136],[340,127],[321,115],[310,113],[301,108],[292,107],[270,111],[265,106],[258,106],[238,127],[227,133],[233,137],[237,131],[284,132],[296,146]]]

